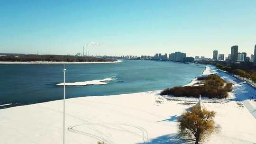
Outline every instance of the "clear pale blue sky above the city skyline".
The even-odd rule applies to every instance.
[[[91,41],[91,54],[252,54],[256,0],[0,1],[0,53],[75,54]]]

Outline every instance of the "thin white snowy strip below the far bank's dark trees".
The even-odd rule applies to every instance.
[[[114,62],[47,62],[47,61],[37,61],[37,62],[0,62],[0,64],[86,64],[86,63],[120,63],[122,61]]]

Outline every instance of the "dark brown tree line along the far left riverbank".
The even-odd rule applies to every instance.
[[[0,56],[1,62],[113,62],[115,59],[98,58],[92,56],[73,56],[73,55],[37,55],[37,54],[24,54],[24,55],[6,55]]]

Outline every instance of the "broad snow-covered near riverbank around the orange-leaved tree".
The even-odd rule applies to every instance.
[[[213,71],[218,73],[209,67],[203,74]],[[235,95],[230,93],[231,99],[223,103],[203,99],[207,109],[217,112],[215,121],[221,127],[203,144],[256,143],[256,119],[242,103],[245,84],[218,74],[235,83]],[[176,120],[197,99],[165,99],[159,92],[66,99],[66,144],[193,144],[177,135]],[[62,144],[62,119],[62,100],[0,109],[1,143]]]

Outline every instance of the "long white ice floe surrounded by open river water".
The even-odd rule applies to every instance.
[[[66,82],[66,86],[86,86],[86,85],[101,85],[101,84],[108,84],[109,81],[114,81],[115,78],[106,78],[103,80],[92,80],[92,81],[80,81],[80,82]],[[56,85],[64,85],[64,83],[58,83]]]

